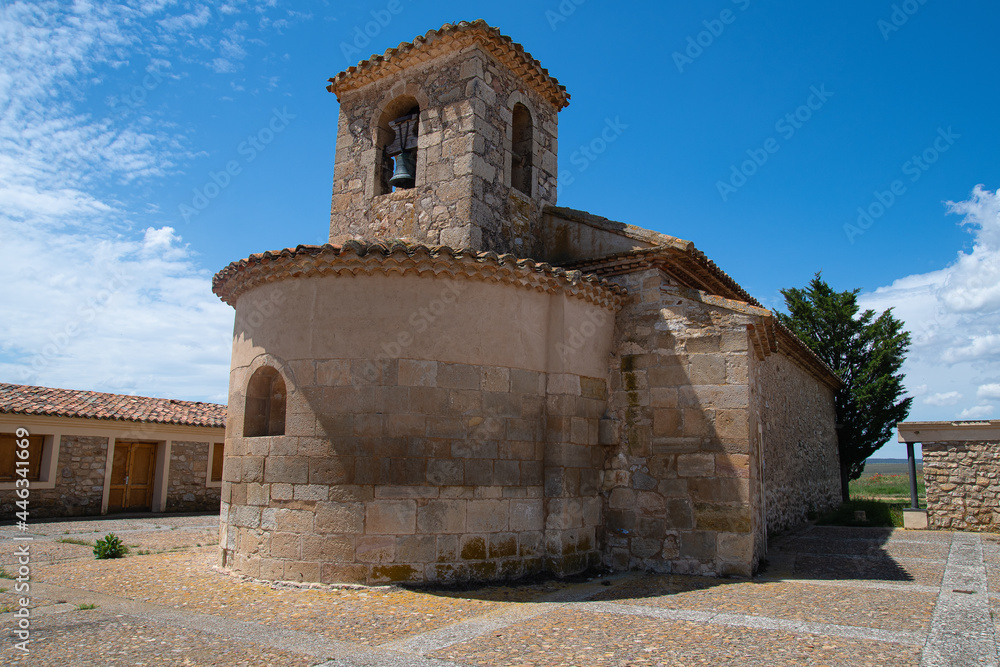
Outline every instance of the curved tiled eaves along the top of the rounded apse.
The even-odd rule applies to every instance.
[[[406,241],[358,241],[299,245],[232,262],[212,279],[212,291],[231,306],[263,282],[331,273],[417,273],[492,280],[546,292],[562,291],[609,309],[621,306],[625,289],[583,271],[511,254],[427,246]]]

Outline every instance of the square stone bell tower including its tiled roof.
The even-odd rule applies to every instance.
[[[340,102],[331,243],[540,255],[569,94],[520,44],[482,20],[446,24],[327,89]]]

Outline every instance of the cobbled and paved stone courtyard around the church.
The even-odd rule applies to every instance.
[[[96,561],[119,534],[132,555]],[[0,526],[0,564],[16,571]],[[751,581],[615,574],[472,590],[281,587],[212,569],[215,516],[35,523],[31,652],[0,664],[997,665],[1000,538],[808,527]],[[94,608],[87,608],[94,605]]]

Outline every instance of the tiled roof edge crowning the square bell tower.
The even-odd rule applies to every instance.
[[[425,34],[414,37],[412,42],[402,42],[399,46],[386,49],[381,55],[372,54],[332,77],[327,90],[335,93],[339,100],[341,92],[360,88],[383,74],[399,71],[407,66],[409,60],[423,61],[432,58],[440,52],[438,47],[455,40],[467,41],[469,44],[478,41],[494,58],[531,84],[556,110],[569,105],[566,86],[549,74],[538,60],[524,50],[524,46],[483,19],[445,23],[436,30],[428,30]]]

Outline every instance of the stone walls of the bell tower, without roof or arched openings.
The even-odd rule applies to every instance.
[[[416,187],[378,194],[376,125],[400,99],[420,107]],[[512,109],[533,115],[533,192],[510,185]],[[330,242],[406,238],[519,257],[540,252],[556,201],[557,111],[477,46],[433,58],[341,99]]]

